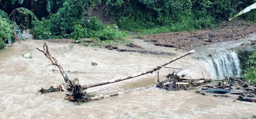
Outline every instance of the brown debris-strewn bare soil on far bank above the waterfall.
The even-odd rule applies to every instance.
[[[190,32],[172,32],[139,36],[144,41],[153,41],[157,46],[173,47],[189,50],[197,45],[212,44],[218,41],[238,40],[255,33],[256,24],[243,21],[224,21],[216,29],[201,29]],[[207,40],[207,34],[212,36],[212,42]]]

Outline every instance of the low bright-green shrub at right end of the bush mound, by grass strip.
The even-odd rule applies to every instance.
[[[113,24],[113,28],[106,26],[103,30],[97,32],[96,37],[99,40],[118,40],[123,36],[122,32],[118,31],[116,24]]]

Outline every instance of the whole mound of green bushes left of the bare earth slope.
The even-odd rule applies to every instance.
[[[97,17],[86,19],[85,8],[97,1],[67,0],[48,20],[34,21],[33,36],[37,39],[98,37],[100,40],[120,38],[118,29],[103,26]],[[99,2],[99,1],[98,1]],[[117,26],[114,26],[117,28]]]

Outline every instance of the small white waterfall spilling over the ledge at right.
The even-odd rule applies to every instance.
[[[221,77],[227,75],[234,75],[240,77],[239,59],[235,52],[219,51],[208,56],[201,55],[199,60],[205,65],[211,77],[222,79]]]

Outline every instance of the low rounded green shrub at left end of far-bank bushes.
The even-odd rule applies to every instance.
[[[36,39],[48,39],[51,38],[51,29],[53,24],[51,20],[47,20],[42,18],[41,21],[33,21],[32,22],[32,35]]]

